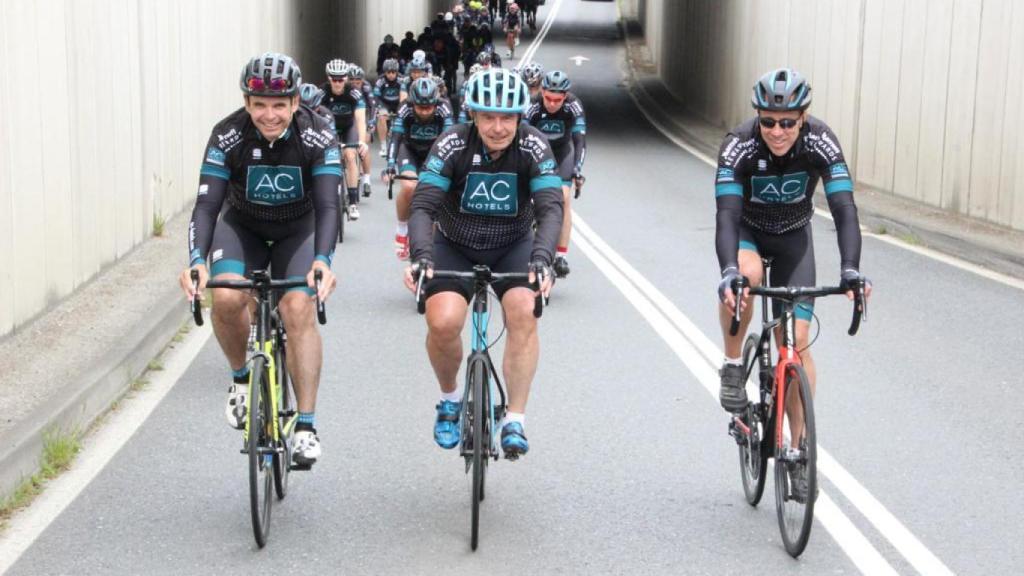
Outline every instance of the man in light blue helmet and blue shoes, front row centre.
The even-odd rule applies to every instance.
[[[547,271],[562,223],[561,179],[551,148],[539,130],[521,123],[526,84],[505,69],[478,72],[467,84],[466,100],[473,123],[453,127],[434,142],[409,218],[415,271],[428,279],[427,355],[441,388],[434,441],[445,449],[460,440],[462,394],[456,377],[472,285],[430,280],[431,271],[435,263],[438,270],[466,272],[486,264],[499,273],[530,271],[534,279],[532,270],[541,270],[541,291],[547,295]],[[410,290],[416,286],[414,266],[406,269]],[[540,349],[535,291],[526,282],[493,287],[508,330],[502,367],[509,412],[501,424],[502,450],[507,456],[525,454],[524,412]]]

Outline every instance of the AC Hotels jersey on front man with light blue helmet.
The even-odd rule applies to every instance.
[[[433,260],[432,231],[474,250],[508,247],[537,232],[532,260],[550,264],[562,227],[561,179],[547,139],[519,124],[512,145],[492,159],[474,126],[445,131],[427,156],[409,219],[413,260]]]

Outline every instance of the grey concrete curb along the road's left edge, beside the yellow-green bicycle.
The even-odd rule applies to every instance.
[[[44,437],[50,430],[86,430],[145,372],[188,317],[177,286],[154,299],[152,311],[106,352],[96,365],[68,383],[57,395],[62,402],[43,404],[26,418],[32,425],[14,426],[0,436],[0,495],[7,496],[40,467]]]

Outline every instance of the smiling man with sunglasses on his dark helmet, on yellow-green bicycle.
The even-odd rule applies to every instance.
[[[279,307],[299,408],[294,459],[311,464],[321,455],[313,412],[323,359],[313,320],[313,272],[323,271],[318,295],[327,299],[336,282],[331,259],[338,237],[341,151],[328,120],[299,106],[301,82],[299,67],[284,54],[267,52],[246,65],[240,80],[245,108],[217,123],[207,143],[188,224],[189,268],[179,282],[190,300],[202,297],[211,276],[243,280],[270,266],[275,279],[306,278],[308,288],[290,290]],[[199,272],[198,293],[193,270]],[[213,293],[213,330],[233,379],[225,413],[239,429],[249,397],[250,301],[234,290]]]

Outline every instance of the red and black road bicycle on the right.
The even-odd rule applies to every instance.
[[[745,410],[733,414],[729,435],[739,447],[740,480],[746,502],[757,506],[764,493],[768,458],[775,460],[775,511],[782,543],[790,556],[797,558],[807,546],[814,521],[814,502],[817,498],[817,444],[814,420],[814,401],[811,383],[796,347],[797,298],[818,298],[855,294],[853,320],[848,333],[852,336],[867,320],[867,301],[863,281],[853,286],[824,287],[772,287],[768,285],[770,258],[762,258],[765,286],[751,287],[752,296],[761,296],[762,327],[760,333],[748,334],[743,342],[743,372],[745,380],[757,384],[758,394]],[[733,283],[737,295],[735,316],[729,333],[735,335],[739,328],[738,298],[749,287],[745,278]],[[769,298],[781,305],[781,314],[769,317]],[[778,353],[772,352],[771,340],[778,331]],[[813,342],[812,342],[813,343]],[[773,356],[777,358],[773,359]],[[756,376],[756,380],[753,378]],[[788,406],[788,410],[786,407]],[[790,417],[803,425],[795,426]],[[797,430],[797,442],[787,439],[787,431]],[[797,448],[794,448],[796,446]]]

